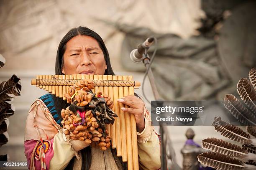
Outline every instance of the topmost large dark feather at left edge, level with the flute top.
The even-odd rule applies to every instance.
[[[6,99],[13,98],[11,95],[20,96],[20,79],[13,75],[9,80],[3,81],[0,84],[0,103]]]

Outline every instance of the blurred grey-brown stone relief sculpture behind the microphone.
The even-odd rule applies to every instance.
[[[203,7],[205,6],[207,7]],[[223,4],[219,6],[223,7]],[[230,16],[227,9],[232,10],[233,15]],[[123,68],[128,71],[144,71],[143,64],[134,64],[129,54],[147,37],[155,36],[158,39],[158,50],[152,70],[159,93],[164,99],[222,100],[224,93],[233,92],[232,87],[236,85],[237,79],[246,75],[249,69],[256,65],[255,49],[250,48],[254,44],[250,42],[256,41],[255,33],[251,29],[256,27],[256,20],[252,18],[256,10],[253,9],[256,9],[255,2],[245,2],[243,5],[236,2],[231,4],[230,8],[223,7],[216,13],[206,11],[207,17],[201,19],[202,26],[197,29],[200,35],[188,39],[182,39],[172,33],[156,33],[143,27],[108,24],[115,25],[118,31],[125,33],[120,56]],[[245,10],[249,14],[237,17]],[[253,22],[246,25],[244,20]],[[237,23],[235,28],[230,25],[234,21]],[[248,35],[239,32],[238,23],[241,23],[244,29],[248,28],[245,30]],[[238,48],[238,43],[243,47]],[[248,44],[246,51],[244,43]],[[153,50],[154,47],[148,51],[149,55],[152,55]],[[240,55],[236,55],[237,53]]]

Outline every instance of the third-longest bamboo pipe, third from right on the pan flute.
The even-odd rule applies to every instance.
[[[123,80],[123,76],[118,76],[118,80]],[[123,87],[118,87],[119,98],[123,98]],[[121,138],[122,138],[122,160],[127,162],[127,146],[126,146],[126,131],[125,131],[125,112],[121,110],[124,107],[123,103],[119,102],[120,108],[120,125],[121,125]]]

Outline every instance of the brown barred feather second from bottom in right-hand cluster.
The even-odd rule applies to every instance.
[[[202,140],[202,147],[230,157],[244,157],[248,152],[242,147],[216,138]]]

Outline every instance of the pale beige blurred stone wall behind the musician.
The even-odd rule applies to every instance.
[[[1,147],[0,154],[8,153],[10,161],[26,160],[23,148],[26,115],[33,100],[46,93],[30,82],[36,75],[54,74],[57,47],[70,28],[84,25],[95,30],[106,43],[115,73],[134,75],[142,82],[143,73],[127,72],[120,64],[123,33],[100,20],[148,27],[158,33],[176,33],[188,38],[196,34],[197,20],[203,15],[200,0],[1,0],[0,53],[6,63],[0,71],[0,81],[16,74],[21,79],[22,91],[14,101],[16,112],[10,117],[9,142]],[[148,98],[153,100],[149,83],[145,89]],[[136,92],[142,94],[141,90]],[[146,105],[150,109],[150,105]],[[168,128],[181,166],[180,150],[189,127]],[[209,134],[220,137],[212,127],[192,129],[198,143],[210,137]]]

